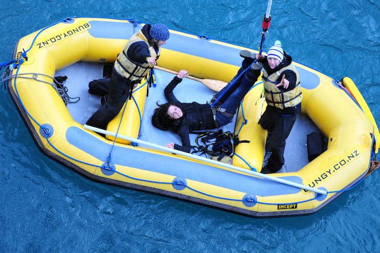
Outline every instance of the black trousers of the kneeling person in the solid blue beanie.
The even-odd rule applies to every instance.
[[[111,78],[95,80],[89,83],[89,93],[97,95],[108,94],[107,101],[86,122],[87,125],[106,129],[110,122],[120,112],[128,99],[132,83],[116,71]]]

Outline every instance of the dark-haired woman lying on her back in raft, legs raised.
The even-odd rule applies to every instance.
[[[252,61],[252,58],[244,57],[242,66],[235,77],[239,76]],[[174,88],[182,81],[182,78],[188,76],[186,70],[180,70],[164,90],[168,102],[164,104],[157,102],[158,107],[151,118],[155,127],[161,130],[171,130],[180,136],[182,146],[170,142],[166,144],[166,147],[189,153],[191,150],[189,131],[214,129],[230,123],[240,101],[260,76],[262,66],[261,62],[252,64],[251,68],[226,92],[223,96],[224,99],[219,100],[221,105],[216,110],[212,110],[208,103],[181,103],[175,97]],[[219,91],[215,97],[218,97],[224,89]]]

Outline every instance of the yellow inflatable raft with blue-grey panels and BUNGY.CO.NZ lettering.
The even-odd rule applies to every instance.
[[[52,78],[79,65],[68,75],[69,81],[88,75],[91,68],[112,64],[142,25],[135,20],[66,18],[18,42],[9,91],[34,139],[49,156],[100,182],[257,217],[315,212],[369,171],[378,152],[379,132],[355,84],[349,78],[335,81],[297,63],[303,117],[328,138],[327,151],[300,167],[288,165],[280,173],[259,173],[267,136],[257,124],[265,107],[260,81],[244,98],[234,122],[235,133],[250,142],[237,146],[232,165],[164,147],[164,141],[174,134],[153,128],[150,116],[172,76],[157,70],[156,82],[161,84],[149,88],[146,97],[148,87],[143,80],[107,131],[85,127],[87,117],[100,106],[89,111],[94,97],[87,93],[87,83],[101,78],[100,71],[69,87],[69,93],[83,91],[81,106],[66,106]],[[243,47],[175,30],[170,33],[158,62],[161,67],[186,69],[194,77],[224,82],[240,67]],[[169,76],[164,80],[165,75]],[[191,90],[201,86],[194,84]],[[185,88],[182,92],[190,100],[201,93],[211,94],[205,90],[191,96]],[[292,134],[297,133],[293,130]],[[287,149],[291,141],[287,140]],[[305,143],[300,146],[305,149]],[[294,150],[285,159],[305,160],[306,156]]]

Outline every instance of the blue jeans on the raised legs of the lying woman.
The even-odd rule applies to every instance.
[[[244,69],[249,67],[251,63],[252,59],[243,60],[242,67],[239,69],[237,75],[234,78],[239,76]],[[240,101],[244,98],[252,85],[257,81],[259,76],[260,70],[252,71],[251,69],[248,69],[244,75],[242,75],[240,79],[233,84],[233,86],[226,92],[226,94],[224,94],[224,99],[220,99],[221,101],[224,100],[220,105],[220,108],[225,109],[225,112],[227,113],[223,114],[221,112],[216,112],[215,120],[220,126],[224,126],[231,122],[233,115],[236,114],[236,110],[240,105]],[[216,97],[218,97],[218,95],[221,94],[225,89],[226,87],[219,91],[216,94]]]

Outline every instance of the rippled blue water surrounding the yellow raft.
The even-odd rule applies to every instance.
[[[0,61],[24,35],[68,16],[162,22],[256,49],[266,8],[266,0],[3,0]],[[380,123],[378,1],[274,0],[272,17],[265,50],[278,39],[295,61],[352,78]],[[380,251],[379,171],[314,214],[247,218],[93,182],[43,155],[8,92],[0,96],[1,252]]]

